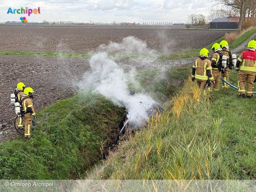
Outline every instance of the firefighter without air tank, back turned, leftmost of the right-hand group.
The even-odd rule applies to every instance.
[[[212,76],[211,62],[208,60],[209,51],[206,48],[201,49],[200,56],[195,60],[192,68],[192,81],[196,80],[197,85],[204,90],[207,81],[211,81],[214,84],[214,79]],[[209,79],[209,80],[208,80]]]

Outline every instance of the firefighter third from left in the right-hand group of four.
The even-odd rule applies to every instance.
[[[220,42],[220,48],[222,48],[222,53],[223,55],[227,56],[227,68],[225,68],[225,71],[224,73],[221,73],[221,76],[222,78],[227,81],[229,83],[229,73],[230,73],[230,70],[232,69],[232,66],[230,65],[230,59],[232,57],[232,53],[231,51],[229,50],[229,47],[228,47],[228,42],[223,40]],[[223,81],[223,84],[222,84],[222,89],[223,90],[227,90],[229,89],[229,85],[226,84],[224,81]]]

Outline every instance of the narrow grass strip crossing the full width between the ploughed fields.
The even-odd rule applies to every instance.
[[[251,29],[245,32],[243,35],[239,36],[229,48],[234,49],[241,45],[245,40],[247,40],[252,34],[256,32],[256,29]],[[212,45],[214,43],[220,43],[223,37],[214,41],[210,45],[206,46],[210,53],[212,53]],[[178,59],[189,59],[197,57],[200,49],[184,49],[178,52],[160,54],[160,55],[120,55],[120,54],[110,54],[110,58],[114,59],[156,59],[158,61],[164,60],[178,60]],[[84,53],[53,53],[53,52],[25,52],[25,51],[0,51],[0,55],[17,55],[17,56],[36,56],[36,57],[67,57],[67,58],[90,58],[92,54]]]

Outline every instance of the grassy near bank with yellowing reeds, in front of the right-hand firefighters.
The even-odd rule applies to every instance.
[[[164,113],[128,135],[89,178],[256,179],[255,98],[237,95],[230,88],[202,96],[187,80]]]

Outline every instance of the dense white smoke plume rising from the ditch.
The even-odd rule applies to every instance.
[[[129,42],[132,42],[131,45]],[[105,52],[92,56],[89,62],[91,71],[84,74],[84,80],[79,83],[79,87],[93,88],[97,93],[109,98],[115,105],[125,107],[128,110],[129,125],[144,126],[148,118],[147,110],[153,99],[147,94],[131,94],[128,84],[131,82],[138,84],[134,80],[135,71],[130,70],[125,73],[114,60],[108,57],[108,54],[143,54],[143,51],[146,53],[153,51],[147,48],[146,43],[134,37],[124,38],[120,44],[111,42],[108,46],[101,45],[100,49]]]

